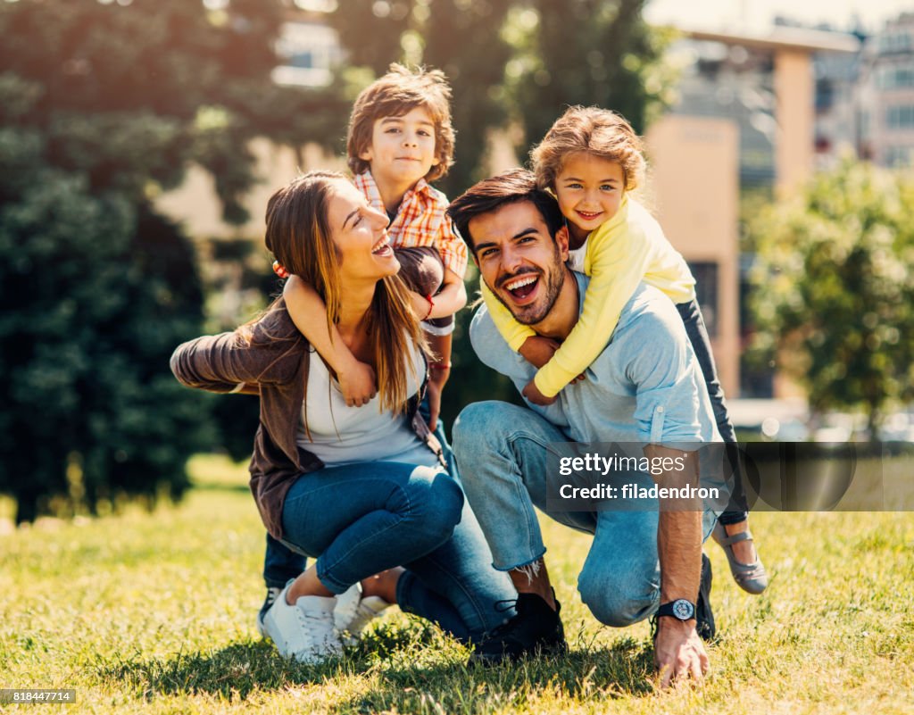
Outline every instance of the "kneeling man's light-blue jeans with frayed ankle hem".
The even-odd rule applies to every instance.
[[[506,402],[475,402],[454,422],[453,451],[493,565],[510,571],[546,553],[534,507],[593,535],[578,577],[581,600],[600,623],[624,626],[654,613],[660,599],[656,508],[556,512],[546,504],[547,454],[568,438],[536,412]],[[642,475],[650,482],[650,477]],[[649,486],[644,484],[644,486]],[[713,526],[707,512],[704,533]]]

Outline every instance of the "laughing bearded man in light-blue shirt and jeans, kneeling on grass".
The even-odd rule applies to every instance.
[[[489,289],[515,320],[558,346],[578,321],[588,278],[565,265],[568,236],[555,200],[537,189],[532,174],[515,169],[479,182],[448,210]],[[484,307],[470,334],[480,359],[523,390],[536,368],[507,346]],[[523,408],[489,401],[464,409],[453,433],[464,489],[495,568],[508,571],[518,592],[517,615],[474,657],[497,661],[565,649],[533,508],[549,513],[547,458],[556,454],[554,445],[647,443],[644,455],[658,458],[684,454],[664,443],[719,440],[682,320],[668,298],[643,283],[585,379],[562,390],[556,402]],[[664,473],[654,479],[674,486],[694,478],[696,453],[685,456],[685,477]],[[550,516],[594,535],[579,575],[591,613],[604,624],[624,626],[657,612],[654,646],[662,684],[690,675],[701,680],[708,661],[696,625],[706,636],[714,631],[707,604],[710,565],[701,545],[713,512],[704,515],[704,524],[700,503]]]

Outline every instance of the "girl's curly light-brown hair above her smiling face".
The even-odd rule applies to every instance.
[[[569,107],[530,152],[537,186],[555,191],[562,165],[577,152],[622,165],[625,190],[638,186],[644,171],[643,144],[621,114],[600,107]]]

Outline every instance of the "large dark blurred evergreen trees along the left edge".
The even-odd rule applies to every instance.
[[[281,22],[279,0],[0,3],[0,490],[17,520],[52,496],[179,496],[186,457],[217,442],[209,401],[168,369],[202,328],[194,248],[149,197],[195,161],[240,222],[253,136],[330,141],[341,100],[270,80]]]

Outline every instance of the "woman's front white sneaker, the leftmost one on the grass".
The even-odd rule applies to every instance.
[[[334,626],[336,597],[300,596],[291,606],[286,603],[290,581],[276,597],[263,618],[263,630],[280,651],[299,663],[322,663],[343,652]]]

